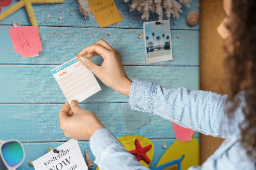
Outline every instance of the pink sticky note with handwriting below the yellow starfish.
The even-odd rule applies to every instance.
[[[38,56],[38,52],[43,50],[38,27],[11,27],[9,31],[15,52],[23,58]]]

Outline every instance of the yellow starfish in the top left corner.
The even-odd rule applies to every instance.
[[[32,26],[38,26],[36,22],[36,16],[33,12],[32,4],[46,4],[46,3],[64,3],[65,0],[20,0],[19,3],[13,4],[10,8],[5,10],[3,13],[0,13],[0,21],[11,15],[13,12],[16,12],[23,6],[25,6],[29,20]]]

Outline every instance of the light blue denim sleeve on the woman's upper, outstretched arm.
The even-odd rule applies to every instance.
[[[164,88],[152,82],[134,79],[129,96],[132,109],[157,114],[181,127],[205,135],[228,137],[240,132],[244,120],[239,108],[234,118],[225,114],[227,95],[186,88]]]

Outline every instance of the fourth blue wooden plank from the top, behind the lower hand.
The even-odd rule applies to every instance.
[[[142,135],[151,139],[173,138],[172,122],[155,114],[148,114],[150,122],[127,133],[121,106],[124,103],[80,104],[94,112],[116,137]],[[20,141],[63,141],[67,137],[60,128],[58,113],[63,104],[1,104],[0,139]],[[199,137],[196,132],[195,137]]]

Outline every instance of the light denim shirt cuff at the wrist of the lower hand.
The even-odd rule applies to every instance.
[[[122,145],[115,135],[107,128],[99,128],[90,138],[90,148],[95,156],[94,163],[99,166],[100,156],[109,147]]]

